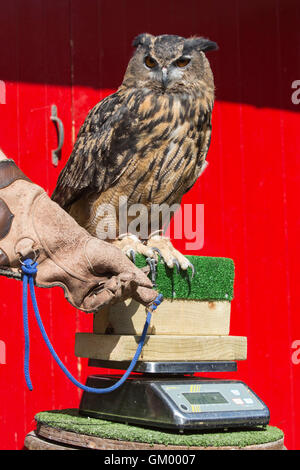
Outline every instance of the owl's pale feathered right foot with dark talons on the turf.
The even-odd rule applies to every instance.
[[[169,268],[176,266],[177,272],[179,272],[180,269],[186,271],[188,268],[191,268],[192,278],[194,277],[195,268],[193,264],[185,256],[183,256],[180,251],[174,248],[169,238],[163,237],[161,235],[150,236],[149,240],[147,241],[147,247],[159,253],[162,260]]]

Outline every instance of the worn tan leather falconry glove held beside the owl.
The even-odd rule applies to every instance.
[[[20,279],[27,257],[38,263],[37,286],[63,287],[85,312],[129,297],[150,305],[157,295],[117,247],[92,237],[0,151],[0,274]]]

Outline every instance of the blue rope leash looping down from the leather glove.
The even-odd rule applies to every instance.
[[[135,366],[136,362],[139,359],[139,356],[141,354],[141,351],[142,351],[142,348],[143,348],[143,345],[144,345],[144,342],[145,342],[147,330],[148,330],[148,327],[149,327],[149,324],[150,324],[150,320],[151,320],[151,316],[152,316],[151,311],[148,311],[148,313],[147,313],[145,326],[144,326],[144,329],[143,329],[143,332],[142,332],[137,350],[135,352],[135,355],[134,355],[128,369],[126,370],[124,375],[120,378],[120,380],[118,380],[118,382],[116,382],[111,387],[107,387],[107,388],[87,387],[86,385],[83,385],[80,382],[78,382],[78,380],[75,379],[75,377],[72,376],[72,374],[69,372],[69,370],[66,368],[66,366],[62,363],[62,361],[60,360],[60,358],[56,354],[56,352],[55,352],[55,350],[54,350],[54,348],[51,344],[51,341],[49,340],[48,335],[45,331],[45,328],[44,328],[44,325],[43,325],[43,322],[42,322],[42,319],[41,319],[41,316],[40,316],[40,313],[39,313],[39,309],[38,309],[38,305],[37,305],[37,301],[36,301],[36,297],[35,297],[35,291],[34,291],[34,275],[37,272],[37,263],[34,262],[32,259],[26,259],[22,264],[22,271],[23,271],[23,301],[22,301],[22,305],[23,305],[23,326],[24,326],[24,338],[25,338],[24,374],[25,374],[25,381],[26,381],[26,384],[27,384],[27,387],[29,388],[29,390],[33,390],[33,387],[32,387],[32,383],[31,383],[30,371],[29,371],[29,356],[30,356],[30,344],[29,343],[30,343],[30,341],[29,341],[29,327],[28,327],[28,284],[29,284],[29,290],[30,290],[31,301],[32,301],[35,317],[36,317],[37,323],[39,325],[40,331],[42,333],[43,339],[44,339],[50,353],[52,354],[52,357],[54,358],[56,363],[59,365],[59,367],[62,369],[62,371],[66,374],[68,379],[75,386],[81,388],[82,390],[84,390],[86,392],[91,392],[91,393],[98,393],[98,394],[109,393],[109,392],[112,392],[113,390],[116,390],[117,388],[119,388],[125,382],[127,377],[131,374],[132,370],[134,369],[134,366]],[[156,299],[154,300],[154,302],[151,306],[152,311],[155,310],[157,308],[157,306],[162,301],[163,301],[163,296],[162,296],[162,294],[159,294],[156,297]]]

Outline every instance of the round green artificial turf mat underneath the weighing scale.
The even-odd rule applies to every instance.
[[[283,432],[273,426],[244,431],[219,431],[178,434],[134,425],[103,421],[80,416],[77,409],[42,411],[36,422],[64,431],[121,441],[178,446],[245,447],[274,442],[283,438]]]

